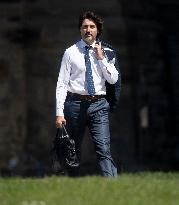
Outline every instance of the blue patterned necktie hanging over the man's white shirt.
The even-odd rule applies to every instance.
[[[86,84],[89,95],[95,95],[94,81],[92,76],[91,62],[89,57],[89,46],[85,46]]]

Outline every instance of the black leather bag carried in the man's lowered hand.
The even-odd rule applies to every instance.
[[[77,168],[79,161],[75,150],[75,141],[68,135],[65,126],[57,128],[53,141],[53,171],[63,172],[68,168]]]

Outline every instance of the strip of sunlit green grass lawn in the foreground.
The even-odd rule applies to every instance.
[[[0,205],[179,205],[179,173],[0,178]]]

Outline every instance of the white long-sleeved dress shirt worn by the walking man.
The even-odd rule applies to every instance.
[[[66,49],[59,71],[56,87],[56,116],[64,116],[64,102],[67,91],[81,95],[88,95],[85,82],[85,58],[84,51],[87,44],[81,40]],[[118,80],[118,71],[114,63],[115,58],[108,62],[107,56],[103,60],[97,60],[94,46],[89,50],[95,95],[105,95],[105,81],[114,84]],[[106,48],[105,48],[106,49]],[[107,48],[110,50],[110,48]]]

